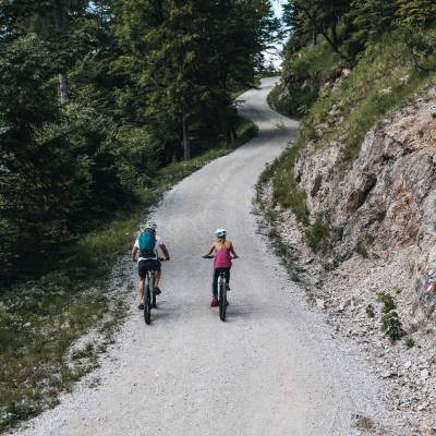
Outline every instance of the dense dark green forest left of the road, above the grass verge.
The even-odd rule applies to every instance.
[[[0,283],[234,136],[268,0],[0,1]]]

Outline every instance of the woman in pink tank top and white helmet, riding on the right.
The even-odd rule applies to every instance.
[[[237,253],[233,249],[233,243],[226,239],[227,238],[227,230],[226,229],[217,229],[215,231],[215,235],[217,240],[214,241],[213,245],[210,246],[209,251],[203,256],[205,258],[210,257],[210,255],[215,252],[214,256],[214,275],[211,281],[211,302],[210,307],[218,306],[218,277],[221,272],[225,274],[226,283],[229,288],[230,282],[230,268],[231,268],[231,261],[232,258],[239,258]],[[233,256],[233,257],[232,257]]]

